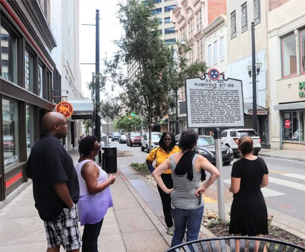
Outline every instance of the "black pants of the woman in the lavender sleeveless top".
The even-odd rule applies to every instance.
[[[100,222],[95,224],[85,224],[84,232],[83,232],[83,246],[81,248],[82,252],[98,252],[97,250],[97,239],[99,237],[99,233],[101,232],[102,219]]]

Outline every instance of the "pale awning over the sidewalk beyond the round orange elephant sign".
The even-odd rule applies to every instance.
[[[91,100],[68,101],[73,106],[72,120],[91,119],[93,115],[94,104]]]

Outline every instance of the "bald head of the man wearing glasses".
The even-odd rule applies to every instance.
[[[66,118],[58,112],[48,112],[42,118],[42,126],[47,133],[62,138],[68,133]]]

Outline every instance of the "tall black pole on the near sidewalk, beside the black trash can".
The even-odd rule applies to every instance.
[[[101,118],[96,109],[97,102],[100,102],[100,78],[99,78],[99,9],[95,13],[95,136],[98,142],[101,141]],[[99,151],[99,164],[102,163],[102,152]]]

